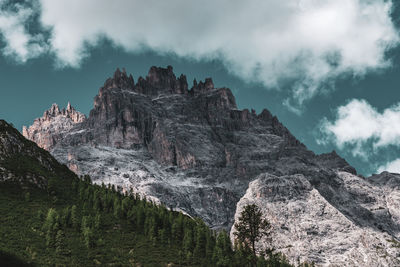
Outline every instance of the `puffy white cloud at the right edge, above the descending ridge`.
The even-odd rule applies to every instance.
[[[354,156],[368,157],[387,146],[400,146],[400,103],[382,112],[365,100],[353,99],[336,110],[336,118],[320,123],[321,143],[333,142]]]

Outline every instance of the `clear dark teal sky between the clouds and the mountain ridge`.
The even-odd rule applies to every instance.
[[[397,18],[396,13],[392,18]],[[338,149],[332,143],[319,145],[316,142],[320,137],[318,125],[321,119],[334,119],[336,108],[351,99],[365,99],[378,111],[400,102],[398,48],[387,54],[392,60],[392,67],[369,71],[363,77],[344,75],[344,78],[336,79],[335,89],[306,102],[301,115],[290,112],[282,104],[290,94],[290,88],[276,90],[241,79],[238,75],[228,73],[229,66],[226,67],[219,60],[198,61],[178,57],[173,53],[160,54],[150,49],[140,51],[126,52],[108,41],[102,41],[90,48],[90,56],[78,68],[55,67],[54,54],[51,53],[29,59],[25,63],[16,63],[9,56],[1,56],[0,118],[21,130],[23,125],[30,125],[35,118],[42,116],[52,103],[64,107],[68,101],[77,110],[88,114],[98,89],[117,67],[125,67],[136,81],[139,76],[145,76],[153,65],[172,65],[177,76],[181,73],[187,75],[189,84],[193,78],[203,80],[212,77],[216,86],[231,88],[241,109],[254,108],[257,112],[263,108],[269,109],[309,149],[316,153],[335,149],[362,174],[373,173],[378,166],[400,157],[400,150],[395,146],[382,149],[364,160],[353,157],[346,147]]]

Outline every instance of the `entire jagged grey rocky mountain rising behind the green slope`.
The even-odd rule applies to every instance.
[[[257,203],[274,247],[293,263],[400,264],[399,175],[364,178],[334,151],[314,154],[268,110],[239,110],[230,89],[210,78],[189,88],[172,67],[152,67],[135,83],[117,69],[87,119],[61,112],[23,133],[94,183],[132,190],[214,229],[231,230],[243,206]]]

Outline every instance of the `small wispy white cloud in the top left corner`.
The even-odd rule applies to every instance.
[[[25,25],[35,14],[34,8],[14,4],[12,9],[7,9],[7,4],[0,1],[0,36],[5,43],[2,53],[24,63],[44,53],[46,44],[42,34],[30,34],[26,29]]]

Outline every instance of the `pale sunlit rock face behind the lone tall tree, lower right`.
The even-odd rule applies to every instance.
[[[237,204],[235,219],[245,205],[257,204],[273,227],[272,246],[294,261],[323,266],[399,266],[400,221],[392,211],[398,213],[400,208],[400,175],[378,177],[388,175],[397,189],[387,180],[376,184],[371,178],[338,172],[332,177],[334,183],[325,185],[336,196],[327,198],[303,174],[261,174]],[[234,232],[233,227],[232,238]],[[258,243],[260,251],[269,246],[265,238]]]

